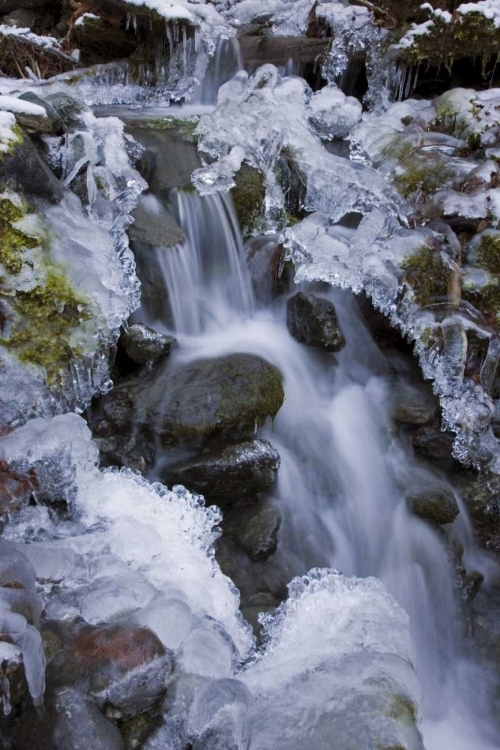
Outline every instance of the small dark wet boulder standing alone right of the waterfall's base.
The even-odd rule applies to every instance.
[[[339,352],[345,339],[332,302],[297,292],[287,303],[288,330],[294,339],[327,352]]]

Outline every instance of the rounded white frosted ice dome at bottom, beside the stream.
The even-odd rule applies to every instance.
[[[315,569],[289,591],[261,616],[263,650],[241,674],[253,697],[250,748],[329,750],[335,737],[371,750],[377,737],[422,750],[409,620],[382,584]]]

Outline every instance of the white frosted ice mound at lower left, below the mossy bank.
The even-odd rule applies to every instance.
[[[204,657],[212,671],[218,660],[231,665],[248,655],[252,637],[237,593],[213,554],[217,508],[130,470],[99,471],[97,447],[76,414],[30,421],[0,439],[0,456],[9,466],[33,469],[45,497],[64,493],[68,502],[72,523],[52,522],[39,505],[22,511],[5,532],[38,578],[60,581],[49,587],[49,618],[63,610],[91,624],[133,616],[176,652],[193,628],[213,633],[218,623],[225,635]]]

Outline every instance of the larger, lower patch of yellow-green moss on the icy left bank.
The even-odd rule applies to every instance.
[[[2,343],[22,362],[41,365],[55,384],[68,361],[81,353],[70,344],[71,333],[88,318],[87,303],[68,282],[61,267],[46,266],[45,284],[13,298],[16,315],[9,338]]]

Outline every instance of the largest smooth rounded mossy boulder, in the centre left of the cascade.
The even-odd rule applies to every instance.
[[[283,399],[276,367],[251,354],[231,354],[187,364],[166,360],[124,378],[104,398],[103,411],[111,431],[133,431],[172,448],[252,435]]]

